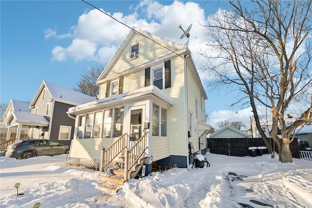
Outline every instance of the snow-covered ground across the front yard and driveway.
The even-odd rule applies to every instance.
[[[0,157],[0,207],[312,208],[312,162],[282,164],[278,155],[205,157],[210,167],[153,172],[130,179],[117,193],[98,187],[98,171],[70,166],[65,154]],[[17,196],[16,183],[23,195]]]

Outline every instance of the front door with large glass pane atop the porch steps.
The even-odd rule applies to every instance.
[[[144,107],[142,106],[129,108],[130,141],[137,141],[142,136],[142,132],[143,132],[142,120],[144,119],[143,113],[144,113]]]

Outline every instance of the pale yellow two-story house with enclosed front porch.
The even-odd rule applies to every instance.
[[[72,161],[96,166],[101,148],[121,137],[130,148],[146,132],[145,153],[159,166],[187,167],[189,142],[206,150],[207,95],[186,46],[133,28],[97,83],[98,101],[67,112],[76,116]]]

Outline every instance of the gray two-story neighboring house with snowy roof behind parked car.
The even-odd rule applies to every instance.
[[[7,140],[14,137],[17,141],[20,140],[21,132],[27,129],[27,138],[60,140],[63,144],[70,144],[75,118],[68,117],[66,111],[70,107],[96,100],[77,91],[42,81],[33,100],[28,103],[29,111],[15,109],[6,118],[5,125],[9,125]]]

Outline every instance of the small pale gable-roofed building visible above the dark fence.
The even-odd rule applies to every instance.
[[[209,135],[209,138],[249,138],[249,134],[233,128],[229,125],[215,131]]]

